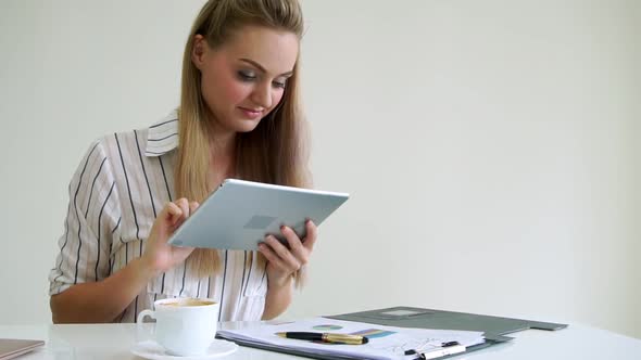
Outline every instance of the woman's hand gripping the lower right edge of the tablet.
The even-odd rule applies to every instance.
[[[267,259],[267,278],[269,285],[284,286],[290,283],[291,275],[310,260],[316,243],[317,228],[312,220],[305,221],[306,235],[301,241],[289,227],[281,227],[280,232],[287,239],[289,248],[274,235],[267,235],[265,242],[259,244],[259,250]]]

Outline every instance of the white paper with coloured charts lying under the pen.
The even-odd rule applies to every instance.
[[[369,342],[364,345],[314,343],[282,338],[276,335],[277,332],[355,334],[367,336]],[[319,355],[347,355],[370,359],[410,359],[412,357],[405,356],[405,350],[429,351],[449,342],[458,342],[468,347],[485,340],[482,332],[393,327],[326,318],[261,324],[242,330],[221,330],[218,335],[229,339],[239,338]]]

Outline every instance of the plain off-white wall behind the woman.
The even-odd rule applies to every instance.
[[[50,321],[67,182],[178,101],[202,0],[0,1],[0,323]],[[320,228],[286,317],[409,305],[641,337],[641,5],[304,0]]]

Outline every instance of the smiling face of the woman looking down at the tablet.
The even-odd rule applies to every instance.
[[[242,27],[215,49],[197,35],[191,60],[217,129],[253,130],[282,99],[298,51],[294,34],[260,26]]]

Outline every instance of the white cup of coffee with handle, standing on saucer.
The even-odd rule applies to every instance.
[[[144,317],[155,319],[155,342],[176,356],[205,353],[218,326],[221,305],[213,299],[171,298],[153,303],[155,310],[138,314],[138,330]]]

